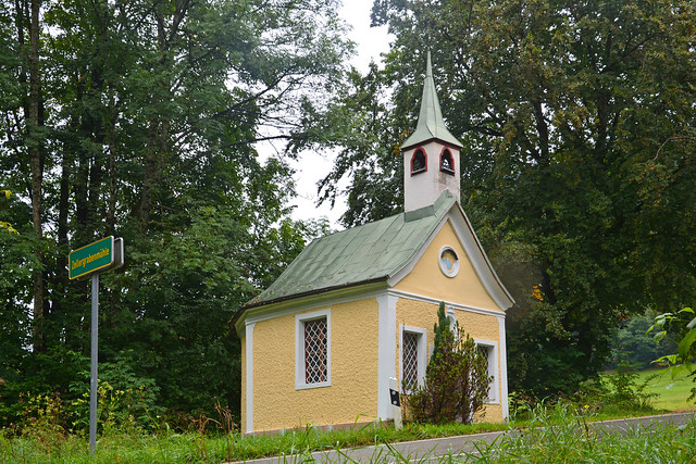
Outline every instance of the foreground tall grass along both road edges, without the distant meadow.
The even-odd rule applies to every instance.
[[[87,440],[76,436],[47,431],[25,432],[10,438],[0,436],[0,462],[3,463],[142,463],[202,462],[248,460],[261,455],[284,455],[279,462],[312,462],[315,450],[338,450],[351,444],[377,447],[371,462],[696,462],[696,422],[681,427],[656,425],[638,428],[626,436],[587,422],[587,415],[559,403],[539,405],[532,411],[524,428],[512,422],[507,432],[493,444],[476,443],[473,451],[450,450],[442,456],[432,453],[403,455],[399,439],[413,435],[446,435],[426,428],[370,426],[349,431],[321,432],[309,427],[275,437],[240,437],[238,434],[159,435],[112,434],[98,442],[96,459],[89,455]],[[452,431],[452,430],[448,430]],[[339,451],[323,462],[350,462],[350,452]]]

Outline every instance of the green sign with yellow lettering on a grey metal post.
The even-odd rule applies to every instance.
[[[109,236],[67,255],[72,279],[91,276],[91,356],[89,369],[89,450],[97,451],[97,365],[99,362],[99,274],[123,266],[123,239]]]

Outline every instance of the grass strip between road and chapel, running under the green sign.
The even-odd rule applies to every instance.
[[[409,425],[401,430],[380,424],[347,430],[320,431],[315,427],[289,430],[275,436],[239,434],[112,432],[100,437],[96,460],[89,455],[84,437],[59,432],[54,427],[35,426],[20,437],[0,435],[0,463],[141,463],[223,462],[283,454],[309,455],[312,451],[334,450],[424,438],[506,430],[506,424]]]

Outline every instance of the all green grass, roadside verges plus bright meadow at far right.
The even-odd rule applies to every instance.
[[[611,374],[608,374],[611,375]],[[654,378],[651,378],[654,376]],[[635,379],[641,385],[649,379],[646,392],[655,392],[658,398],[654,405],[659,411],[693,410],[686,403],[692,379],[686,375],[672,378],[666,368],[655,368],[638,373]],[[387,446],[374,462],[385,460],[401,461],[414,459],[423,462],[423,456],[400,456],[389,446],[398,441],[470,435],[483,431],[521,430],[508,434],[493,447],[478,444],[475,455],[482,462],[512,461],[563,461],[606,462],[617,461],[667,461],[696,462],[696,425],[692,423],[682,430],[664,428],[658,434],[631,434],[629,437],[605,437],[599,439],[586,426],[587,421],[599,421],[649,414],[649,411],[622,411],[614,404],[607,407],[584,409],[583,405],[559,403],[540,404],[529,410],[524,421],[511,424],[451,424],[445,426],[409,424],[401,430],[383,427],[381,424],[356,426],[348,430],[320,431],[314,427],[289,430],[276,436],[243,437],[233,434],[177,434],[166,427],[158,432],[147,434],[138,429],[112,428],[98,441],[98,453],[90,456],[85,437],[65,434],[62,428],[39,419],[20,436],[11,436],[0,430],[0,463],[140,463],[140,462],[210,462],[250,460],[263,456],[291,455],[289,462],[303,462],[312,451],[335,450],[370,444]],[[46,416],[48,417],[48,416]],[[551,427],[552,426],[552,427]],[[522,439],[522,437],[524,439]],[[666,443],[668,446],[666,446]],[[431,456],[432,457],[432,456]],[[437,457],[435,461],[459,461],[461,456]]]

